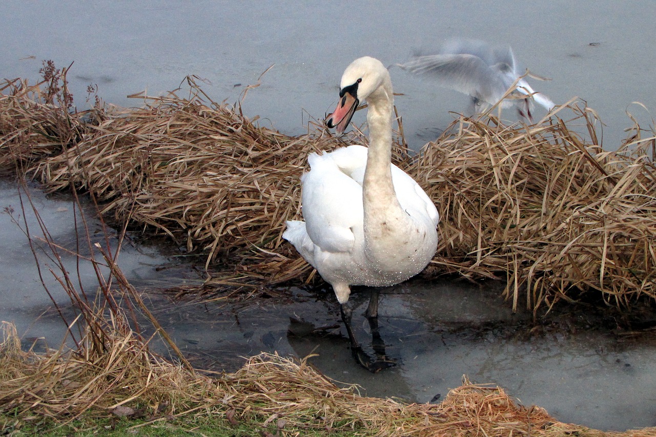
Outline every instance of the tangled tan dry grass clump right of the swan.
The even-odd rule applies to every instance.
[[[514,304],[527,290],[535,310],[571,289],[602,291],[613,304],[656,299],[654,138],[636,126],[634,150],[605,152],[590,113],[567,109],[567,122],[528,127],[462,117],[408,164],[440,207],[434,266],[505,272]],[[581,120],[593,144],[567,128]]]

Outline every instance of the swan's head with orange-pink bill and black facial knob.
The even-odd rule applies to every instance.
[[[392,99],[392,81],[385,66],[370,56],[354,60],[344,70],[337,109],[328,115],[326,124],[335,127],[337,133],[344,132],[359,102],[378,93],[384,93],[386,98]]]

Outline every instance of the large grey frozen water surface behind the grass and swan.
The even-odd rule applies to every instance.
[[[415,49],[438,49],[464,37],[509,44],[522,67],[549,77],[532,80],[556,104],[579,96],[598,111],[604,145],[615,149],[630,126],[628,109],[647,127],[656,107],[653,81],[656,3],[594,5],[549,2],[413,1],[40,1],[7,0],[0,18],[4,77],[37,78],[41,61],[75,61],[70,73],[77,104],[95,83],[106,101],[138,106],[128,94],[175,89],[186,75],[207,80],[215,100],[236,102],[243,87],[275,64],[244,109],[289,134],[308,117],[333,110],[344,68],[365,54],[386,65]],[[392,69],[408,140],[419,148],[462,111],[466,96],[429,79]],[[241,86],[235,86],[241,84]]]

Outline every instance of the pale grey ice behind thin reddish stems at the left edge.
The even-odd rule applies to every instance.
[[[103,228],[100,220],[93,218],[95,209],[88,200],[83,202],[83,209],[89,216],[87,226],[91,244],[99,242],[106,247],[106,241],[109,241],[112,253],[115,253],[117,233],[112,228]],[[59,248],[61,265],[72,278],[75,289],[85,291],[91,298],[96,295],[96,272],[91,262],[85,260],[91,254],[85,237],[87,232],[70,196],[47,198],[35,186],[19,189],[13,183],[0,180],[0,320],[14,322],[18,332],[27,332],[29,339],[46,337],[50,347],[58,347],[66,326],[56,316],[45,287],[66,316],[73,312],[70,299],[57,279],[62,276],[59,263],[44,241],[37,215],[47,229],[48,238]],[[26,234],[31,236],[32,245]],[[121,246],[118,264],[136,286],[166,287],[200,280],[191,268],[181,268],[174,257],[166,257],[162,251],[162,248],[140,245],[127,239]],[[95,256],[102,260],[99,253],[96,252]],[[40,270],[35,258],[39,260]],[[161,270],[174,270],[176,279],[167,278]],[[104,268],[101,272],[106,276],[108,270]]]

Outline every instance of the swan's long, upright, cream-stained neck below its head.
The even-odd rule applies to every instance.
[[[369,152],[362,185],[365,245],[367,256],[383,264],[394,255],[398,232],[407,232],[410,220],[392,184],[393,95],[391,83],[386,83],[367,97]]]

